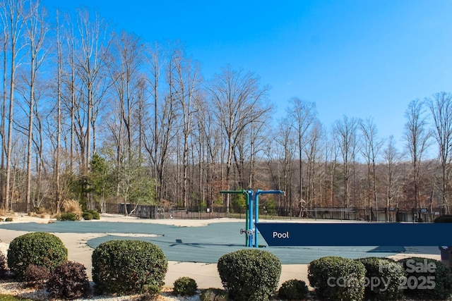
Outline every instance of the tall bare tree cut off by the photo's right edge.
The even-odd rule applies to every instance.
[[[451,199],[451,154],[452,154],[452,95],[446,92],[434,94],[432,98],[425,99],[432,113],[434,137],[439,149],[439,162],[441,165],[440,189],[441,204],[450,212]]]

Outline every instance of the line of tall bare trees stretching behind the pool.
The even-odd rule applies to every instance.
[[[372,118],[323,125],[297,97],[275,121],[258,75],[225,66],[203,78],[180,42],[143,41],[86,9],[0,5],[4,210],[73,199],[232,210],[239,198],[220,190],[248,188],[284,190],[262,202],[299,214],[451,206],[448,92],[410,102],[397,149]]]

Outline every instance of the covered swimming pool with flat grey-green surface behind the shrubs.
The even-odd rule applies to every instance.
[[[210,223],[207,226],[170,226],[158,223],[109,221],[57,221],[55,223],[2,223],[0,229],[47,233],[97,233],[88,240],[97,247],[107,240],[144,240],[162,248],[168,260],[175,262],[217,263],[223,255],[246,249],[245,237],[240,235],[243,223]],[[314,235],[307,233],[307,235]],[[325,256],[350,259],[387,257],[404,252],[417,252],[417,247],[268,247],[260,238],[261,249],[275,254],[283,264],[309,264]],[[422,252],[439,254],[438,247],[422,247]]]

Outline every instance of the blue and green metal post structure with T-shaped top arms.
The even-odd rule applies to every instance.
[[[245,234],[246,247],[258,247],[258,232],[255,223],[259,222],[259,195],[285,195],[282,190],[221,190],[222,194],[243,194],[246,196],[246,222],[245,230],[241,229],[240,234]]]

